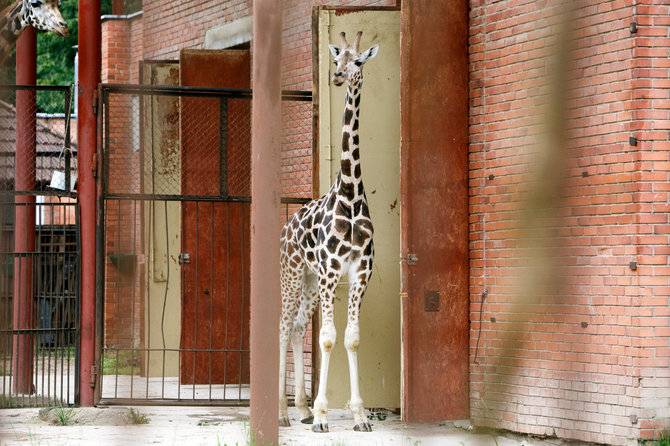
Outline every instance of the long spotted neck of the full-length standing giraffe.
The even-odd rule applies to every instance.
[[[360,111],[362,81],[357,86],[347,86],[342,117],[342,153],[340,154],[339,193],[350,201],[364,194],[361,176],[361,159],[358,141],[358,115]]]

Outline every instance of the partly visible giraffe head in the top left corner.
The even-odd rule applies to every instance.
[[[41,31],[52,31],[61,37],[70,35],[59,6],[60,0],[17,0],[0,12],[0,66],[28,25]]]

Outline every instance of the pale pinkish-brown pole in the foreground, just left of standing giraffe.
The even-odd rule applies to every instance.
[[[283,2],[255,0],[251,130],[251,429],[279,436],[279,170]]]

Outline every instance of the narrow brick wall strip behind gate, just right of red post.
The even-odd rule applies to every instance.
[[[142,52],[136,51],[142,41],[141,15],[131,19],[116,18],[102,21],[102,71],[103,83],[137,83],[139,79],[138,61]],[[116,114],[110,119],[110,147],[114,153],[110,171],[124,174],[135,172],[139,178],[138,152],[133,148],[137,142],[129,135],[133,129],[131,120],[139,114],[131,113],[133,103],[128,97],[114,96]],[[120,104],[119,101],[123,103]],[[137,112],[137,110],[135,110]],[[139,135],[136,135],[139,136]],[[117,163],[123,163],[119,165]],[[130,165],[129,165],[130,164]],[[130,178],[130,176],[128,177]],[[113,178],[112,181],[119,181]],[[139,184],[139,179],[136,180]],[[114,186],[112,186],[114,187]],[[129,192],[128,184],[121,181],[116,187],[119,192]],[[105,210],[106,246],[105,253],[128,255],[141,252],[141,207],[131,201],[107,202]],[[136,348],[140,342],[140,268],[115,264],[109,255],[105,256],[105,339],[109,348]]]

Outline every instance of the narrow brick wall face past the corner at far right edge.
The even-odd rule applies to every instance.
[[[637,2],[633,19],[633,125],[638,143],[635,244],[639,264],[631,320],[639,367],[640,438],[670,427],[670,5]],[[659,5],[658,3],[664,3]]]

